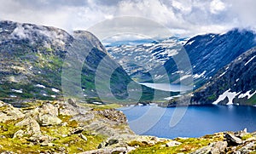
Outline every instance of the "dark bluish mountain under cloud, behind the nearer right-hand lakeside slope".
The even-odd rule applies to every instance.
[[[195,88],[200,88],[222,67],[256,45],[253,31],[234,29],[224,34],[207,34],[192,37],[184,48],[193,67]],[[171,81],[177,80],[178,70],[170,59],[165,63]]]

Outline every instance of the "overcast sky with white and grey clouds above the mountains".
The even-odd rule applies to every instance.
[[[255,7],[255,0],[0,0],[0,20],[73,31],[128,15],[154,20],[182,36],[195,36],[234,27],[255,29]]]

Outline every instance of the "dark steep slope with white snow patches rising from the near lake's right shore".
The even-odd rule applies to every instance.
[[[256,104],[256,48],[224,66],[203,87],[195,91],[192,104]]]

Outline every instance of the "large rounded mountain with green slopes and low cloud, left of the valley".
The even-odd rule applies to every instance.
[[[68,55],[72,55],[70,61]],[[79,82],[76,86],[80,91],[83,89],[84,96],[95,97],[96,68],[103,59],[113,69],[111,82],[106,84],[110,84],[114,96],[126,97],[130,77],[90,32],[74,31],[72,36],[55,27],[0,21],[0,99],[61,98],[61,82],[69,83],[67,87]],[[67,77],[63,76],[62,66],[79,68],[79,76],[75,76],[78,72],[74,69],[70,77],[67,72]],[[109,72],[99,74],[104,73]]]

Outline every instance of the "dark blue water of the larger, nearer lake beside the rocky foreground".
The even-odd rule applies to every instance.
[[[135,106],[120,109],[131,122],[141,118],[154,119],[155,112],[148,114],[152,106]],[[223,131],[238,131],[247,128],[248,132],[256,131],[256,107],[253,106],[189,106],[183,118],[176,126],[170,127],[170,119],[175,108],[157,107],[163,112],[163,116],[156,122],[154,127],[149,128],[143,134],[154,135],[164,138],[176,137],[200,137],[205,134],[213,134]],[[148,117],[147,117],[148,115]],[[131,126],[135,133],[137,128],[147,127],[142,118],[136,126]],[[140,125],[140,126],[138,126]]]

